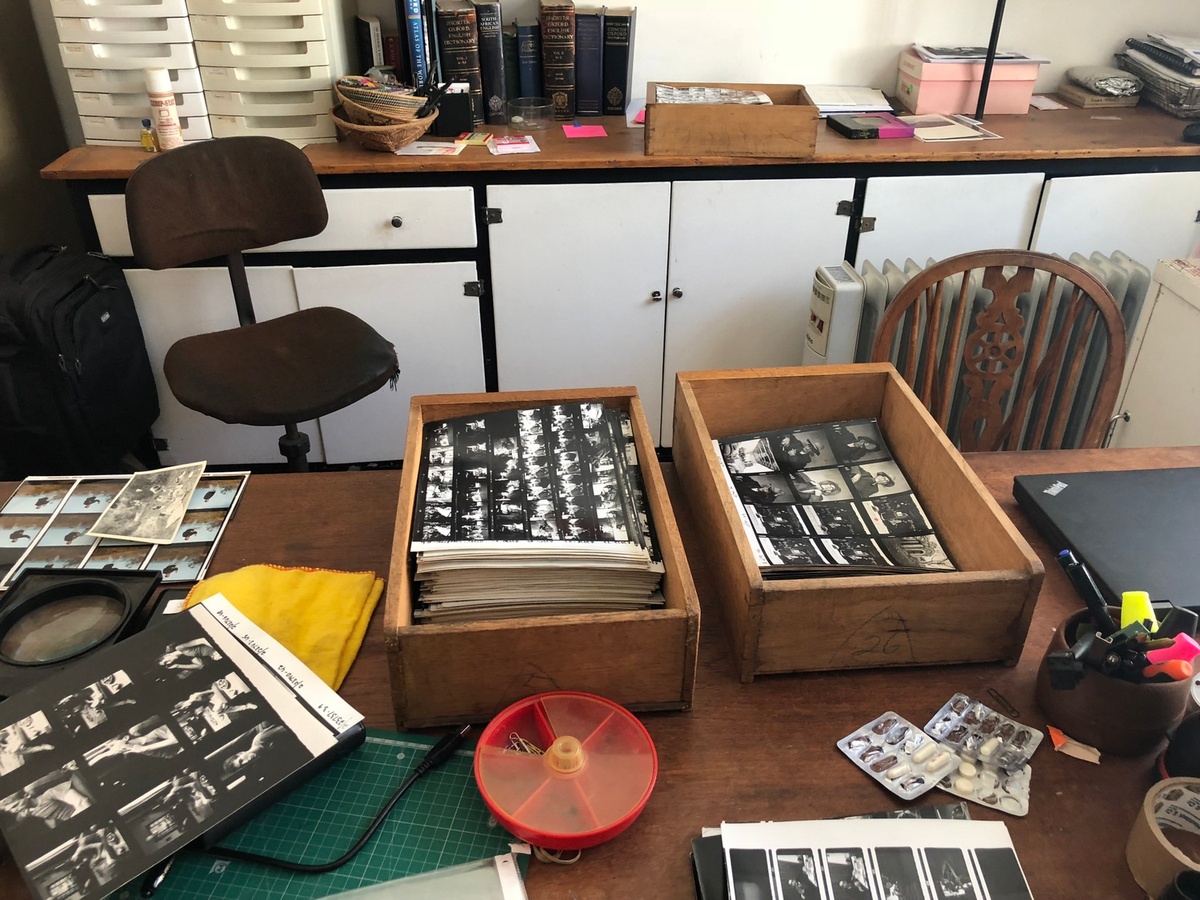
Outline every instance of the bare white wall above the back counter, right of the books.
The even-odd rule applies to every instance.
[[[631,96],[649,80],[866,84],[895,89],[910,43],[986,46],[994,0],[632,0]],[[628,0],[611,0],[625,5]],[[503,0],[533,20],[536,0]],[[1070,66],[1112,65],[1127,37],[1200,34],[1195,0],[1008,0],[1001,47],[1051,60],[1037,89]]]

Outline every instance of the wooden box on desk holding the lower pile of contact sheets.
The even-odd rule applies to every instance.
[[[959,571],[763,580],[713,440],[864,416],[878,419]],[[680,372],[673,455],[743,682],[1016,664],[1042,563],[889,364]]]

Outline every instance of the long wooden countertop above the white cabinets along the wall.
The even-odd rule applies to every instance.
[[[607,138],[569,139],[558,124],[536,133],[539,154],[492,156],[468,148],[458,156],[395,156],[354,144],[311,144],[305,148],[320,175],[384,173],[548,172],[576,169],[650,169],[697,166],[809,166],[818,163],[978,162],[1067,160],[1084,157],[1200,158],[1200,145],[1183,143],[1183,125],[1151,107],[1118,109],[1031,109],[1025,115],[991,115],[990,131],[1003,140],[926,144],[913,138],[851,140],[824,122],[818,126],[816,154],[809,160],[745,157],[646,156],[643,130],[618,116],[589,120],[604,125]],[[506,133],[508,128],[488,128]],[[139,148],[79,146],[42,169],[52,180],[125,179],[146,160]]]

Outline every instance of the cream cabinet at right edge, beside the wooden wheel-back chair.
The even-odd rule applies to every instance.
[[[1133,334],[1117,400],[1112,446],[1200,444],[1200,259],[1164,259],[1154,269]]]

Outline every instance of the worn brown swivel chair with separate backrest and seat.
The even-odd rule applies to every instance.
[[[242,251],[319,234],[329,218],[298,148],[268,137],[185,144],[134,170],[125,205],[143,265],[170,269],[223,257],[229,269],[240,326],[176,341],[163,361],[184,406],[234,425],[284,426],[280,452],[290,469],[305,472],[308,438],[299,422],[395,384],[392,344],[344,310],[254,318]]]

